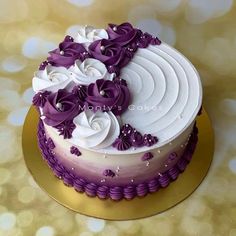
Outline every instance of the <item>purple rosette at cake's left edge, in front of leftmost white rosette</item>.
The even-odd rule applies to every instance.
[[[83,103],[72,93],[59,89],[47,97],[43,107],[45,123],[57,126],[65,121],[73,120],[83,109]]]

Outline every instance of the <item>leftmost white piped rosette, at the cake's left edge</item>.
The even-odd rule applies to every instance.
[[[34,92],[57,92],[72,82],[70,72],[64,67],[46,66],[44,70],[35,72],[32,80]]]

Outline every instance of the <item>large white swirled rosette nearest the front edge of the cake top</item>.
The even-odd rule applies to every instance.
[[[71,141],[85,148],[110,146],[120,133],[120,125],[112,112],[86,110],[73,120],[76,128]]]

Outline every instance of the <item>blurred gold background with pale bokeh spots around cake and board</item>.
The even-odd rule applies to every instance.
[[[187,200],[160,215],[110,222],[50,199],[23,161],[21,132],[39,63],[76,25],[130,21],[189,57],[204,86],[216,147],[212,168]],[[235,236],[236,1],[0,0],[0,235]]]

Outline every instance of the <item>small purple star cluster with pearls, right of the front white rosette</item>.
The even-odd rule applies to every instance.
[[[125,124],[121,127],[120,135],[112,146],[118,150],[124,151],[130,147],[150,147],[157,142],[158,138],[156,136],[152,136],[151,134],[142,135],[131,125]]]

